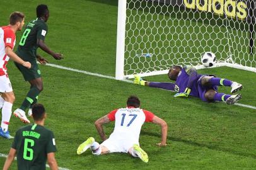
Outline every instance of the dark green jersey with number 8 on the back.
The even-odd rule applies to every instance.
[[[44,40],[48,27],[45,21],[37,18],[26,25],[25,31],[20,39],[16,54],[20,54],[21,59],[26,61],[35,61],[37,54],[37,39]]]

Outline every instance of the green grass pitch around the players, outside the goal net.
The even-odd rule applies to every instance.
[[[64,59],[56,61],[38,50],[53,64],[114,76],[117,30],[117,1],[56,0],[1,1],[0,25],[8,25],[12,11],[23,11],[26,22],[35,18],[35,7],[45,3],[50,9],[49,33],[46,43],[62,52]],[[21,33],[16,35],[20,41]],[[45,126],[53,130],[60,167],[69,169],[255,169],[256,110],[223,103],[204,103],[197,98],[173,98],[172,92],[136,86],[127,82],[40,66],[44,91],[39,103],[47,108]],[[9,77],[16,94],[13,110],[20,106],[29,85],[16,69],[8,64]],[[256,106],[253,72],[228,67],[200,70],[216,74],[245,86],[240,103]],[[168,81],[166,75],[147,77],[149,81]],[[229,93],[229,88],[219,91]],[[146,123],[141,130],[140,144],[149,156],[148,164],[127,154],[93,156],[88,151],[81,156],[76,149],[86,138],[96,133],[94,122],[108,111],[125,106],[127,96],[136,94],[141,107],[165,119],[168,146],[157,147],[161,130]],[[114,123],[105,126],[107,135]],[[11,117],[12,135],[23,126]],[[0,153],[8,154],[11,140],[0,138]],[[5,159],[0,157],[0,168]],[[16,169],[16,161],[11,169]]]

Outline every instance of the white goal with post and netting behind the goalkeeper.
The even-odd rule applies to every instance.
[[[253,0],[119,0],[115,79],[166,74],[172,65],[201,64],[256,72]]]

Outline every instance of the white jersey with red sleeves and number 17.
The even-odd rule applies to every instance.
[[[152,122],[154,114],[140,108],[120,108],[108,113],[110,121],[115,120],[115,128],[110,137],[119,140],[139,142],[139,133],[144,122]]]

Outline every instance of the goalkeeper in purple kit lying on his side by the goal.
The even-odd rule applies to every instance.
[[[243,88],[241,84],[213,75],[197,74],[196,69],[192,66],[173,65],[168,72],[168,77],[175,83],[149,82],[135,75],[134,84],[177,91],[178,93],[174,95],[175,98],[187,98],[190,95],[207,102],[225,101],[228,105],[233,105],[241,99],[241,94],[232,95],[218,92],[218,86],[230,86],[231,93],[236,93]]]

